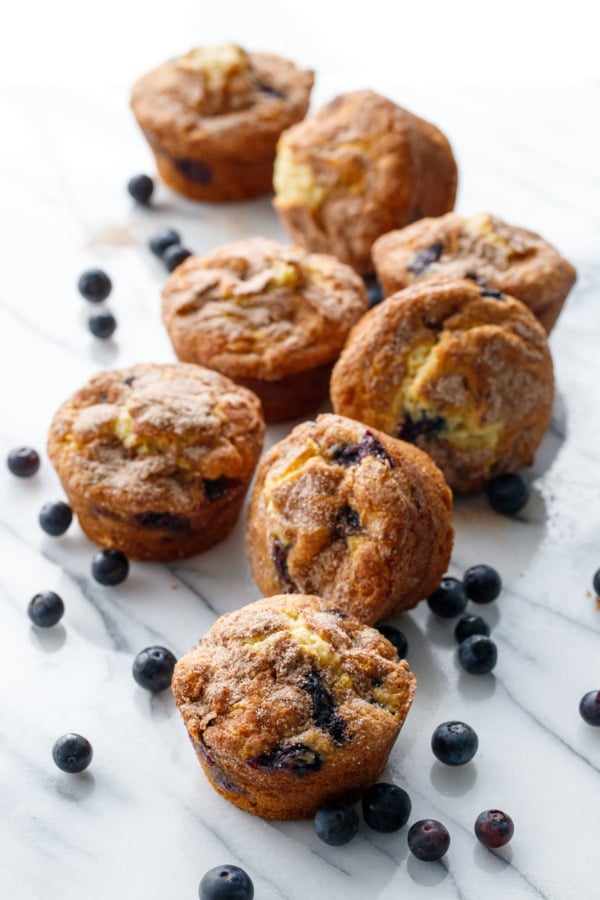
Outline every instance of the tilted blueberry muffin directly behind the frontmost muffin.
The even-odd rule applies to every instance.
[[[314,593],[372,624],[434,591],[452,550],[452,495],[415,447],[322,415],[263,456],[247,550],[265,595]]]

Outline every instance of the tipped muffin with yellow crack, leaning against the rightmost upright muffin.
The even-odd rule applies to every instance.
[[[466,279],[388,297],[352,330],[331,378],[337,413],[413,441],[454,491],[529,465],[553,395],[546,333],[533,313]]]

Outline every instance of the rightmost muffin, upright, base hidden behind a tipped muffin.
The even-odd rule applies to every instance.
[[[426,278],[470,278],[521,300],[547,332],[577,278],[539,234],[489,213],[421,219],[380,237],[371,253],[386,296]]]

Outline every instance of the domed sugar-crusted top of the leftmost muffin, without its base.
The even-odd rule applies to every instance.
[[[92,502],[193,512],[251,477],[263,434],[258,398],[228,378],[139,364],[100,372],[63,403],[48,453]]]

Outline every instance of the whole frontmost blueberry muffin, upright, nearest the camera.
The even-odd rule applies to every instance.
[[[173,677],[212,786],[269,819],[307,818],[366,790],[414,691],[408,663],[378,631],[302,594],[221,616]]]

